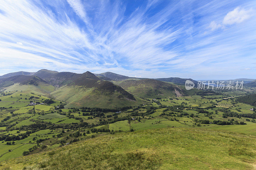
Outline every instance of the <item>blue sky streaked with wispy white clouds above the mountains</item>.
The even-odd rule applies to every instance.
[[[2,0],[0,75],[256,78],[254,0]]]

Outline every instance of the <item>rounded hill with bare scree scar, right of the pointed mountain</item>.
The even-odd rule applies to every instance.
[[[165,98],[184,95],[179,86],[153,79],[125,80],[119,82],[118,85],[140,98]]]

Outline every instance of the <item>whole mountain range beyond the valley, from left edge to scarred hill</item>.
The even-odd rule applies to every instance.
[[[42,69],[0,76],[3,91],[31,91],[67,103],[67,107],[124,107],[147,103],[147,98],[188,95],[183,78],[133,78],[112,72],[83,74]],[[195,83],[195,80],[189,79]]]

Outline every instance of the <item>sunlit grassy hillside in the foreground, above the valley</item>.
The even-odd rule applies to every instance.
[[[103,135],[18,159],[1,169],[255,169],[255,136],[196,128]]]

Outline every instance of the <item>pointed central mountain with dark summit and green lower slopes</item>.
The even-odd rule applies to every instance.
[[[51,93],[58,100],[68,103],[66,107],[124,107],[146,103],[111,82],[101,80],[91,72]]]

